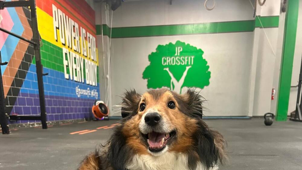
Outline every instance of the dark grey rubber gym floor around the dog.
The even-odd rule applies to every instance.
[[[230,163],[220,169],[302,169],[302,123],[288,120],[266,127],[260,118],[205,121],[228,141]],[[115,123],[109,120],[56,125],[47,130],[12,129],[10,135],[0,134],[0,169],[76,169],[83,157],[111,134],[112,128],[96,128]],[[76,131],[85,134],[70,134]]]

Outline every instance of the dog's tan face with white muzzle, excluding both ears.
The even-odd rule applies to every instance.
[[[140,138],[152,155],[174,151],[191,143],[188,136],[194,131],[194,119],[181,111],[179,96],[169,90],[151,90],[141,96],[137,111]],[[181,145],[180,145],[181,144]]]

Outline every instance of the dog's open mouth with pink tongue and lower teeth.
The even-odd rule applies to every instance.
[[[176,132],[172,131],[170,133],[157,133],[151,132],[145,135],[149,144],[149,150],[151,152],[160,152],[162,151],[168,141],[175,136]]]

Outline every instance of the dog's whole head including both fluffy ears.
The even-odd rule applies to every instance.
[[[131,108],[127,105],[129,101],[133,101]],[[195,92],[178,95],[165,88],[143,95],[128,93],[123,104],[124,112],[127,108],[129,114],[124,134],[141,154],[149,152],[157,156],[168,150],[185,152],[197,128],[196,119],[202,116],[201,102]],[[195,114],[191,114],[192,111]]]

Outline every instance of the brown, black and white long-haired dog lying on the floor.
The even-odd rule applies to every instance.
[[[204,99],[194,89],[166,88],[122,97],[123,119],[79,170],[216,170],[226,163],[226,140],[202,120]]]

